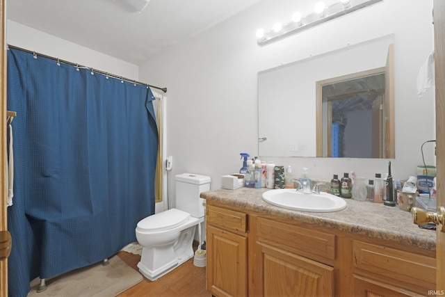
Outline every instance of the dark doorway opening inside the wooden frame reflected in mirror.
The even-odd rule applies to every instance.
[[[382,158],[382,102],[385,74],[325,84],[327,155]]]

